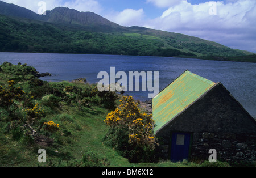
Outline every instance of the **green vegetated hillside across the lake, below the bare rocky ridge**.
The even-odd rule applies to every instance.
[[[0,16],[0,51],[91,53],[139,56],[242,56],[220,44],[196,37],[146,29],[138,32],[93,32],[88,27],[17,20]]]

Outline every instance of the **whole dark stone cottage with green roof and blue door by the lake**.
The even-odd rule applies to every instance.
[[[235,82],[235,81],[234,81]],[[186,70],[152,99],[158,156],[255,163],[256,121],[220,83]]]

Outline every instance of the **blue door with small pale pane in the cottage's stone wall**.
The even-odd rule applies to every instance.
[[[172,133],[171,137],[171,161],[177,162],[188,159],[190,146],[190,133]]]

